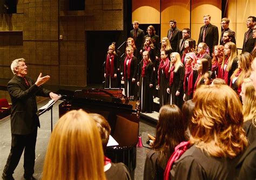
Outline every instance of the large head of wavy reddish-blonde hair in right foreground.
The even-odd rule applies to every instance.
[[[193,100],[191,144],[214,157],[240,154],[247,139],[242,130],[242,105],[234,90],[227,85],[201,85]]]

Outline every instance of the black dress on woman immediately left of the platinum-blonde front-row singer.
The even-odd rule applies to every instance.
[[[167,61],[167,60],[166,60]],[[170,61],[169,66],[170,67]],[[164,69],[159,69],[159,109],[161,106],[168,104],[169,99],[169,93],[167,93],[167,88],[169,88],[169,78],[170,73],[168,74],[168,77],[165,75]]]

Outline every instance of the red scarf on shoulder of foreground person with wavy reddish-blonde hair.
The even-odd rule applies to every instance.
[[[170,171],[172,169],[172,165],[175,161],[177,161],[181,155],[183,155],[186,150],[190,147],[190,141],[180,142],[178,146],[175,147],[174,153],[171,155],[169,161],[167,162],[165,171],[164,171],[164,180],[170,179]]]

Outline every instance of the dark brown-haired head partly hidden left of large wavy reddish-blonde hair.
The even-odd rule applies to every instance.
[[[191,119],[194,113],[194,102],[192,99],[187,100],[182,106],[182,115],[183,115],[183,123],[185,128],[189,128],[191,126]]]

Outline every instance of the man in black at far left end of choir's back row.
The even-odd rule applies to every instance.
[[[144,41],[144,31],[139,28],[139,22],[133,21],[132,23],[133,30],[130,31],[130,37],[134,39],[135,46],[137,47],[138,51],[142,48],[142,44]]]

